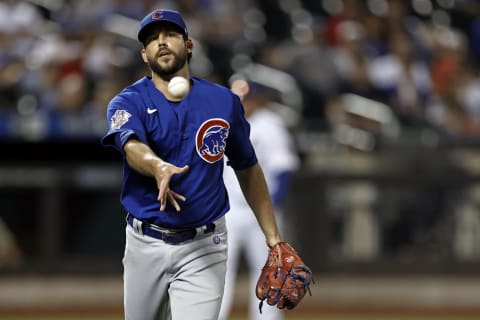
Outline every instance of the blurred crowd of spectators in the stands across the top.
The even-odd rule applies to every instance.
[[[478,0],[0,0],[0,137],[103,134],[109,99],[147,72],[136,31],[160,7],[187,20],[194,75],[291,76],[302,99],[279,102],[304,128],[345,122],[354,95],[401,127],[480,132]]]

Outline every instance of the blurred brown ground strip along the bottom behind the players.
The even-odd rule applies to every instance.
[[[232,320],[246,319],[251,294],[238,280]],[[0,277],[0,319],[122,319],[121,275]],[[312,296],[287,320],[480,319],[480,277],[315,277]]]

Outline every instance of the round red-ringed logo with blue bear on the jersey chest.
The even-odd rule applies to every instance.
[[[208,163],[214,163],[223,157],[230,124],[220,118],[209,119],[202,123],[195,136],[197,153]]]

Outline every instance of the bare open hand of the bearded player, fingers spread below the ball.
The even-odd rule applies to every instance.
[[[184,174],[190,167],[185,165],[183,167],[176,167],[168,162],[163,162],[157,166],[155,170],[155,180],[158,186],[158,201],[160,201],[160,211],[164,211],[169,202],[175,210],[180,211],[180,205],[177,200],[185,201],[186,198],[170,189],[170,180],[174,174]]]

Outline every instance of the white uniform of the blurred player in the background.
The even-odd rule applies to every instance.
[[[255,147],[258,161],[263,168],[270,195],[273,195],[279,188],[278,174],[292,172],[299,166],[299,159],[291,135],[287,131],[283,119],[268,108],[257,109],[248,117],[248,121],[251,125],[250,138]],[[224,180],[231,208],[226,215],[228,230],[227,273],[219,319],[225,320],[228,318],[233,302],[239,258],[243,250],[250,277],[248,291],[250,319],[280,320],[283,318],[282,312],[275,306],[272,307],[264,303],[262,314],[259,312],[260,300],[255,295],[255,286],[260,271],[267,260],[268,247],[255,220],[255,215],[245,201],[236,179],[232,168],[226,165]],[[272,200],[274,200],[274,197],[272,197]],[[276,218],[279,228],[282,229],[278,214]],[[265,245],[259,245],[262,243]]]

